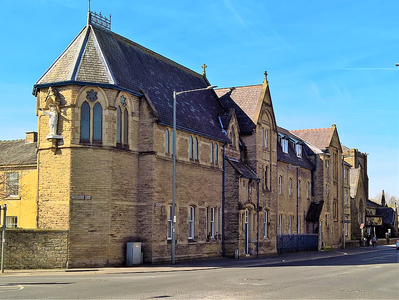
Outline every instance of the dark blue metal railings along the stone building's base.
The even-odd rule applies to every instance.
[[[277,235],[277,254],[317,251],[317,234]]]

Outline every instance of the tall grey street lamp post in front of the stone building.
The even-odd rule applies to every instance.
[[[176,196],[176,97],[178,94],[197,91],[197,90],[204,90],[204,89],[212,89],[217,87],[216,85],[210,85],[205,88],[198,88],[198,89],[190,89],[190,90],[183,90],[183,91],[173,91],[173,131],[172,131],[172,156],[173,156],[173,172],[172,172],[172,242],[171,242],[171,263],[175,264],[175,196]]]

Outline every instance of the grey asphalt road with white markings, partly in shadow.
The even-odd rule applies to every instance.
[[[231,259],[207,270],[6,275],[0,299],[399,299],[394,246],[331,253]]]

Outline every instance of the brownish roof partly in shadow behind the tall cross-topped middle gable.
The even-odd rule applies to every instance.
[[[252,133],[256,127],[255,112],[262,92],[262,84],[215,89],[223,106],[234,108],[240,132]]]

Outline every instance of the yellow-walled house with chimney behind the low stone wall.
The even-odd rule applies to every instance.
[[[0,140],[0,205],[7,206],[7,227],[36,228],[36,146],[37,132]]]

